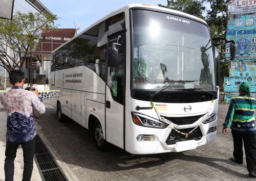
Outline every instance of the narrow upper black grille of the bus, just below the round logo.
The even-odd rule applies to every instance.
[[[198,115],[198,116],[188,116],[188,117],[166,117],[162,116],[165,119],[172,121],[172,123],[177,124],[177,125],[185,125],[185,124],[193,124],[196,122],[200,117],[203,115]]]

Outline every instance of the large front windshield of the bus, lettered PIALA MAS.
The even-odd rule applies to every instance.
[[[166,13],[133,10],[133,89],[216,89],[207,25]]]

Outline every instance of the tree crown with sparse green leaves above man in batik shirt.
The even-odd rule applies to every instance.
[[[21,69],[26,57],[38,46],[37,37],[56,28],[55,18],[42,12],[17,12],[12,21],[0,18],[0,66],[9,73]]]

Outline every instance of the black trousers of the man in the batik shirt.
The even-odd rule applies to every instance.
[[[23,181],[29,181],[31,179],[33,171],[33,159],[35,151],[35,138],[29,142],[6,142],[5,149],[5,180],[13,181],[14,175],[14,159],[16,158],[16,152],[18,146],[22,145],[23,159],[24,159],[24,170],[23,170]]]

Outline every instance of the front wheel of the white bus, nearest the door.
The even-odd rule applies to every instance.
[[[94,142],[101,151],[108,151],[111,148],[110,143],[104,139],[102,126],[99,121],[94,124]]]

